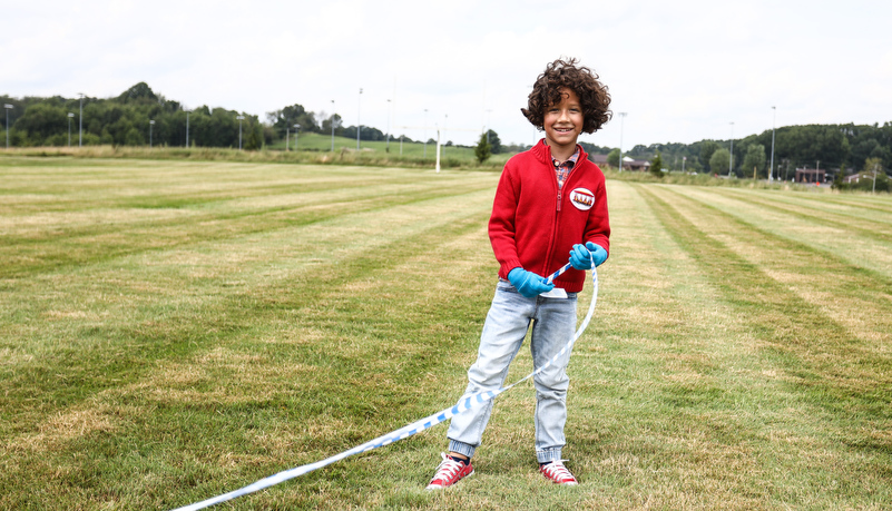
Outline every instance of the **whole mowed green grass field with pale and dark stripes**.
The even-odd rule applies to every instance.
[[[186,505],[452,404],[497,179],[0,157],[0,509]],[[608,193],[579,487],[537,473],[523,385],[453,489],[423,490],[441,425],[218,508],[890,509],[890,197]]]

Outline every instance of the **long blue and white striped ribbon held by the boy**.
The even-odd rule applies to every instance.
[[[570,264],[568,263],[562,268],[560,268],[557,272],[555,272],[553,274],[551,274],[548,277],[548,282],[553,281],[558,275],[560,275],[563,272],[566,272],[569,267],[570,267]],[[203,500],[202,502],[196,502],[194,504],[185,505],[183,508],[177,508],[174,511],[194,511],[194,510],[198,510],[198,509],[205,509],[205,508],[208,508],[210,505],[218,504],[220,502],[226,502],[226,501],[236,499],[236,498],[242,497],[242,495],[247,495],[248,493],[254,493],[256,491],[259,491],[259,490],[276,485],[276,484],[278,484],[281,482],[284,482],[284,481],[287,481],[290,479],[294,479],[294,478],[297,478],[300,475],[306,474],[308,472],[313,472],[314,470],[322,469],[323,466],[330,465],[330,464],[332,464],[332,463],[334,463],[336,461],[341,461],[341,460],[343,460],[345,458],[350,458],[350,456],[355,455],[355,454],[361,454],[363,452],[371,451],[373,449],[383,448],[384,445],[390,445],[392,443],[399,442],[400,440],[408,439],[409,436],[412,436],[415,433],[420,433],[420,432],[422,432],[424,430],[433,428],[437,424],[443,423],[443,422],[452,419],[453,416],[455,416],[455,415],[458,415],[460,413],[463,413],[463,412],[465,412],[468,410],[471,410],[473,407],[480,406],[480,405],[482,405],[482,404],[496,399],[496,396],[501,394],[502,392],[506,392],[506,391],[519,385],[520,383],[526,382],[527,380],[529,380],[532,376],[539,374],[540,372],[545,371],[547,367],[549,367],[551,364],[553,364],[555,361],[557,361],[559,356],[563,355],[565,353],[567,353],[567,351],[572,348],[572,346],[576,343],[576,341],[582,335],[582,333],[588,327],[588,324],[591,321],[591,315],[595,313],[595,304],[598,301],[598,272],[595,269],[595,262],[594,261],[592,261],[592,265],[591,265],[591,286],[592,286],[592,291],[591,291],[592,294],[591,294],[591,303],[588,306],[588,313],[586,314],[585,320],[582,320],[582,323],[579,325],[579,328],[576,331],[576,334],[574,335],[574,338],[571,338],[570,342],[568,342],[566,346],[561,347],[560,352],[555,354],[555,356],[552,356],[551,360],[548,361],[545,365],[542,365],[538,370],[533,371],[532,373],[523,376],[522,379],[518,380],[517,382],[514,382],[514,383],[512,383],[512,384],[510,384],[508,386],[501,387],[501,389],[499,389],[497,391],[486,391],[486,392],[481,392],[479,394],[474,394],[474,395],[472,395],[470,397],[465,397],[465,399],[459,401],[459,403],[455,404],[452,407],[449,407],[449,409],[445,409],[445,410],[441,410],[440,412],[437,412],[433,415],[429,415],[429,416],[427,416],[427,417],[424,417],[424,419],[422,419],[420,421],[415,421],[415,422],[413,422],[413,423],[411,423],[409,425],[405,425],[405,426],[403,426],[403,428],[401,428],[399,430],[391,431],[388,434],[379,436],[379,438],[376,438],[374,440],[370,440],[370,441],[367,441],[367,442],[365,442],[365,443],[363,443],[361,445],[356,445],[355,448],[353,448],[353,449],[351,449],[349,451],[341,452],[341,453],[335,454],[335,455],[333,455],[331,458],[326,458],[324,460],[316,461],[314,463],[308,463],[308,464],[305,464],[305,465],[296,466],[296,468],[291,469],[291,470],[285,470],[285,471],[280,472],[277,474],[269,475],[268,478],[261,479],[259,481],[256,481],[256,482],[254,482],[252,484],[248,484],[247,487],[239,488],[238,490],[234,490],[234,491],[231,491],[228,493],[223,493],[223,494],[214,497],[212,499]]]

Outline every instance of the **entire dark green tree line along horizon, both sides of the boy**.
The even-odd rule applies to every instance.
[[[3,138],[13,147],[71,145],[238,147],[259,149],[282,140],[288,132],[322,132],[361,140],[385,140],[389,134],[371,126],[344,126],[336,112],[313,112],[301,105],[286,106],[266,114],[266,122],[257,116],[200,106],[184,109],[139,82],[120,96],[107,99],[60,96],[21,99],[0,96],[4,106]],[[82,116],[81,116],[82,108]],[[242,119],[239,119],[239,117]],[[7,129],[7,119],[9,129]],[[82,140],[80,127],[82,124]],[[295,125],[298,126],[295,128]],[[241,139],[239,139],[241,132]],[[413,143],[409,137],[403,141]],[[525,145],[503,145],[494,131],[483,134],[489,153],[516,153]],[[428,140],[434,143],[433,139]],[[447,145],[451,143],[447,141]],[[608,154],[616,166],[619,149],[581,143],[589,154]],[[774,161],[771,161],[772,130],[734,140],[700,140],[694,144],[637,145],[626,154],[633,158],[660,156],[660,166],[668,170],[734,175],[765,178],[774,168],[775,178],[790,179],[796,168],[820,168],[831,175],[845,175],[866,169],[883,173],[892,169],[892,122],[869,125],[785,126],[774,131]],[[733,148],[733,155],[732,155]],[[871,167],[871,168],[868,168]],[[840,171],[842,170],[842,171]]]

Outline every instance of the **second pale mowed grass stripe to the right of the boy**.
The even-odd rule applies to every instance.
[[[663,210],[678,212],[674,216],[667,216],[668,218],[690,223],[689,229],[706,229],[707,220],[712,220],[708,232],[700,230],[704,233],[700,235],[703,250],[708,247],[710,252],[723,256],[715,257],[714,264],[746,269],[738,273],[741,277],[736,281],[724,278],[728,272],[723,272],[723,286],[729,289],[732,286],[738,289],[748,286],[751,291],[746,294],[727,295],[734,296],[745,306],[765,305],[765,309],[758,315],[764,320],[758,323],[766,327],[766,340],[774,337],[777,346],[784,350],[798,347],[802,350],[800,355],[819,355],[814,356],[814,362],[822,358],[827,350],[839,350],[836,360],[821,365],[839,377],[866,377],[868,381],[853,385],[861,389],[873,380],[870,373],[875,367],[869,364],[868,367],[871,368],[863,373],[852,373],[853,366],[850,364],[884,361],[885,363],[880,364],[881,367],[892,367],[888,365],[892,362],[888,353],[892,341],[892,330],[889,328],[892,322],[882,317],[885,307],[882,297],[888,296],[892,289],[890,282],[881,275],[852,267],[832,253],[762,230],[732,215],[723,214],[718,208],[686,199],[674,188],[647,188],[651,197],[655,197],[655,191],[651,190],[657,189],[664,205]],[[672,209],[667,205],[672,205]],[[715,222],[716,216],[721,218],[719,222]],[[722,263],[725,259],[728,262]],[[746,279],[751,282],[746,283]],[[849,314],[843,315],[843,312]],[[875,318],[876,322],[843,324],[852,315]],[[861,327],[856,327],[857,324]],[[892,374],[876,376],[879,380],[874,382],[874,390],[880,391],[885,379]]]

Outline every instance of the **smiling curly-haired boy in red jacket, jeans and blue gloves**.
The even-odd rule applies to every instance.
[[[499,283],[480,337],[477,362],[468,370],[464,396],[499,389],[532,323],[530,351],[536,368],[545,365],[576,330],[576,294],[591,259],[607,259],[610,226],[604,174],[577,145],[579,134],[595,132],[610,119],[607,87],[576,59],[556,60],[538,77],[523,115],[545,138],[504,166],[489,237],[499,262]],[[567,262],[572,268],[548,283]],[[558,484],[577,484],[563,466],[567,421],[566,353],[535,377],[536,456],[539,471]],[[442,489],[471,475],[492,401],[452,417],[449,455],[428,484]]]

